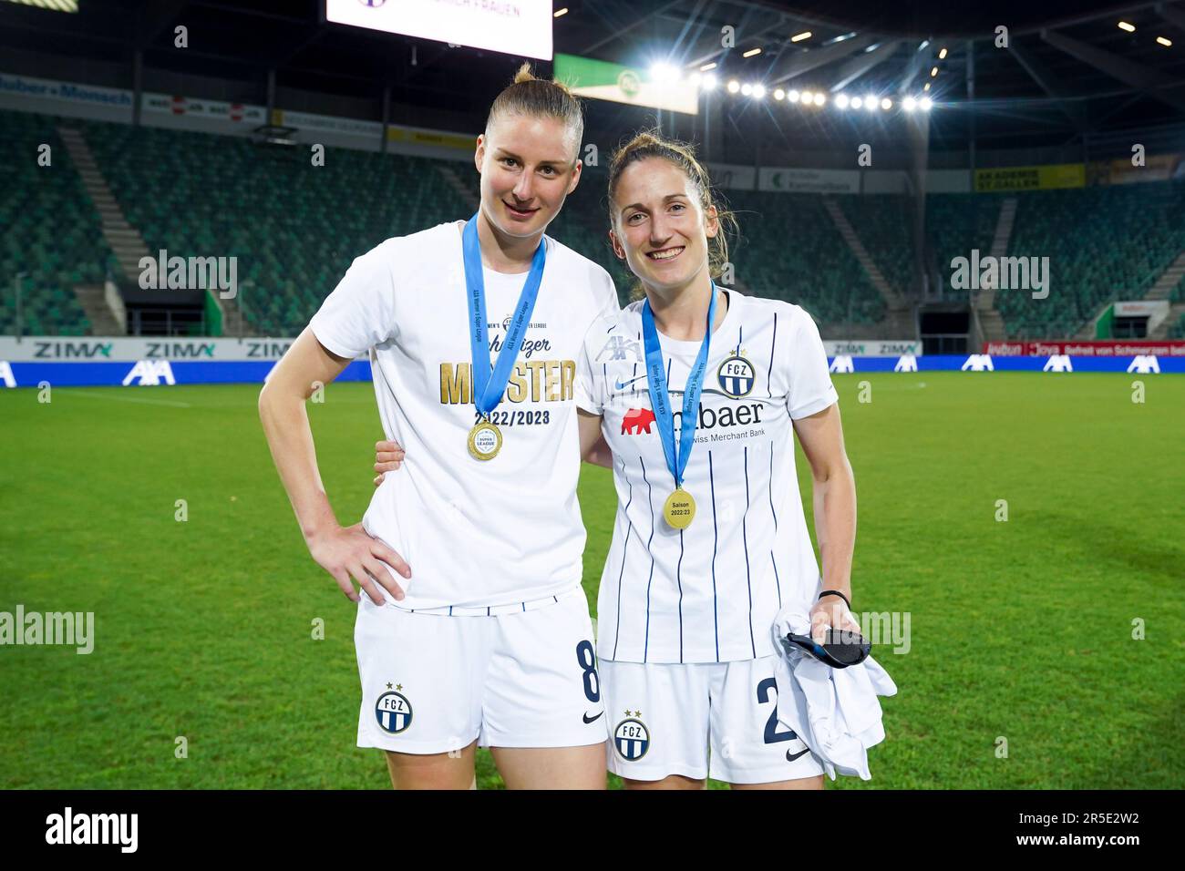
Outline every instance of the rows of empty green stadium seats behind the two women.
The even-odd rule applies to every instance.
[[[78,334],[89,324],[73,295],[120,269],[102,237],[57,121],[0,111],[0,146],[55,145],[55,167],[0,164],[0,287],[26,278],[26,331]],[[354,257],[391,236],[468,217],[479,193],[472,165],[408,155],[327,149],[324,167],[275,159],[244,137],[70,121],[83,130],[108,184],[148,250],[181,256],[236,256],[249,324],[295,334],[332,292]],[[454,188],[442,169],[460,179]],[[633,276],[609,246],[606,173],[585,167],[549,232],[600,263],[622,302]],[[822,198],[729,191],[741,238],[730,260],[749,292],[803,306],[824,324],[875,324],[885,305],[835,230]],[[940,275],[953,257],[991,250],[1005,197],[1018,200],[1008,254],[1049,256],[1051,293],[1032,300],[1000,292],[1010,337],[1077,331],[1108,300],[1141,299],[1185,250],[1185,182],[1148,182],[1018,194],[929,194],[927,232]],[[835,196],[891,286],[912,284],[910,203],[904,194]],[[946,281],[950,300],[966,300]],[[1185,300],[1185,281],[1172,294]],[[15,315],[4,309],[4,324]],[[1177,329],[1174,325],[1172,329]],[[68,332],[70,331],[70,332]]]

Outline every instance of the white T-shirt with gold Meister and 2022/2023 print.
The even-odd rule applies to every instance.
[[[492,412],[502,447],[474,459],[462,226],[390,238],[356,258],[309,324],[340,357],[371,350],[383,431],[406,460],[374,492],[363,524],[411,566],[410,581],[392,577],[406,591],[398,607],[414,610],[473,613],[579,584],[576,359],[589,324],[619,310],[609,274],[545,236],[534,312]],[[525,280],[485,270],[491,363]]]

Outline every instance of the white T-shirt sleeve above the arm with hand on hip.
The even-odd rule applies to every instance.
[[[395,282],[391,276],[391,246],[396,239],[356,257],[309,328],[328,351],[356,358],[391,338],[395,332]]]

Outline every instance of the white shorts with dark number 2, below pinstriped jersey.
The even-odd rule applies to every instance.
[[[729,783],[822,774],[814,751],[777,722],[774,661],[774,657],[688,664],[602,659],[609,770],[630,780],[679,774]]]

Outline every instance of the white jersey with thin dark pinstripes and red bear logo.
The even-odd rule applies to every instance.
[[[723,289],[723,288],[722,288]],[[725,290],[684,488],[696,515],[662,518],[674,489],[647,389],[642,302],[589,328],[577,404],[604,416],[617,518],[597,603],[602,659],[726,662],[775,653],[769,627],[812,602],[819,565],[794,470],[792,420],[837,402],[819,329],[798,306]],[[717,306],[720,301],[717,301]],[[679,441],[699,341],[659,333]]]

